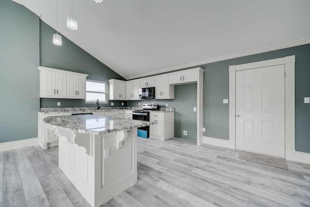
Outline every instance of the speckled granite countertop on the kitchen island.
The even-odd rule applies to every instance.
[[[43,119],[43,122],[50,127],[88,134],[106,134],[154,124],[153,122],[97,116],[92,114],[49,116]]]

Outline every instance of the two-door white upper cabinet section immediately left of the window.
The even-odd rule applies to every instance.
[[[67,97],[85,98],[86,76],[75,73],[67,74]]]

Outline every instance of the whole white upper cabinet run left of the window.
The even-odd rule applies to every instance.
[[[40,71],[40,97],[85,98],[85,82],[88,75],[42,66],[38,69]],[[74,83],[71,82],[72,77],[75,77]],[[75,91],[77,95],[72,95]]]

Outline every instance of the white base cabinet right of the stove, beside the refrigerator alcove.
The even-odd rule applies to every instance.
[[[174,112],[150,112],[150,137],[165,141],[174,136]]]

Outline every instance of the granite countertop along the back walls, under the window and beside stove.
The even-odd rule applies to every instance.
[[[135,111],[143,110],[142,107],[57,107],[57,108],[40,108],[42,113],[91,113],[104,111]],[[157,112],[174,112],[174,108],[160,108]]]

